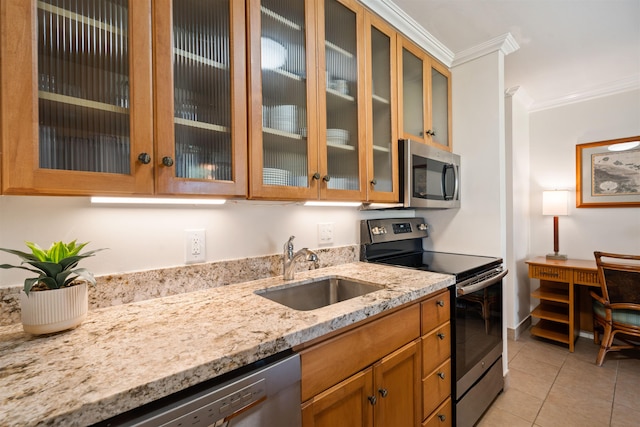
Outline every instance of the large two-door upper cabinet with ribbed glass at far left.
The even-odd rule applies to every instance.
[[[3,1],[5,194],[246,194],[243,2],[175,3]]]

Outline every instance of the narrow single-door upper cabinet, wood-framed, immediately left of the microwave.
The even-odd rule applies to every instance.
[[[398,201],[396,31],[365,15],[367,200]]]

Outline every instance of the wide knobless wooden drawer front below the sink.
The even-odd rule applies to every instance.
[[[420,336],[414,304],[303,350],[302,401],[348,378]]]

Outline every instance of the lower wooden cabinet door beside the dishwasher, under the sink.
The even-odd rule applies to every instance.
[[[327,369],[330,369],[327,366]],[[373,426],[373,372],[368,368],[302,406],[304,427]]]

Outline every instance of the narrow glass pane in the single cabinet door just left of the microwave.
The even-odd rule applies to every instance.
[[[392,191],[391,40],[374,27],[371,27],[371,55],[375,189]]]

